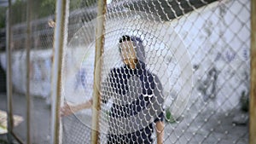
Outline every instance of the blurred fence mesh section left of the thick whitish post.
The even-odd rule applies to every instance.
[[[8,21],[11,27],[9,33],[11,37],[10,67],[13,85],[11,91],[13,96],[10,101],[13,104],[11,111],[15,117],[20,118],[17,120],[14,117],[13,133],[20,142],[49,143],[49,95],[55,3],[43,0],[37,2],[17,0],[9,8],[11,9]],[[26,63],[26,48],[30,48],[29,64]],[[5,56],[5,53],[1,53],[1,66],[4,70],[7,67]],[[28,79],[26,78],[27,71],[29,72]],[[30,82],[30,97],[26,97],[27,80]],[[28,105],[30,107],[27,107]]]

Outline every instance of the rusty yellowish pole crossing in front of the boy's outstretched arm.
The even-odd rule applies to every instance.
[[[91,130],[91,143],[99,143],[99,118],[101,111],[101,68],[102,68],[102,53],[104,46],[104,32],[105,32],[105,14],[107,9],[106,0],[98,0],[97,3],[97,18],[96,18],[96,53],[94,62],[94,85],[93,85],[93,105],[92,105],[92,130]],[[98,80],[96,80],[98,79]],[[97,87],[98,86],[98,87]]]

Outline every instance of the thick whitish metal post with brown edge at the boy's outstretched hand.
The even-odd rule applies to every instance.
[[[69,0],[56,1],[56,26],[54,43],[54,61],[51,78],[51,144],[60,143],[60,106],[61,106],[61,66],[62,53],[67,45],[67,22]]]

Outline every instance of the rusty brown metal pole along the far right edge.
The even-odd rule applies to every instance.
[[[251,89],[249,143],[256,144],[256,1],[251,1]]]

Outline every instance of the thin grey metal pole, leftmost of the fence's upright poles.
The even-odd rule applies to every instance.
[[[14,118],[13,118],[13,87],[12,87],[12,65],[11,65],[11,6],[12,2],[9,0],[9,8],[6,14],[6,66],[7,66],[7,113],[8,113],[8,141],[12,143],[13,128],[14,128]]]

